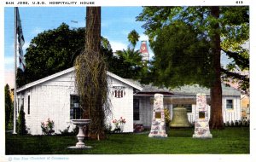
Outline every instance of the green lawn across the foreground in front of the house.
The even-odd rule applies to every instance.
[[[167,138],[144,134],[111,134],[103,141],[86,140],[90,149],[70,149],[76,136],[18,136],[6,134],[6,154],[230,154],[250,153],[249,128],[212,130],[212,139],[192,138],[194,129],[168,130]]]

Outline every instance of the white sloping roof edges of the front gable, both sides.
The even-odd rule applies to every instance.
[[[32,86],[35,86],[35,85],[38,85],[38,84],[42,84],[42,83],[44,83],[44,82],[46,82],[46,81],[49,81],[49,80],[51,80],[51,79],[53,79],[53,78],[57,78],[57,77],[60,77],[60,76],[62,76],[62,75],[64,75],[64,74],[67,74],[68,72],[74,72],[74,71],[75,71],[75,68],[74,68],[74,67],[71,67],[71,68],[68,68],[68,69],[66,69],[66,70],[64,70],[64,71],[57,72],[57,73],[55,73],[55,74],[53,74],[53,75],[50,75],[50,76],[48,76],[48,77],[41,78],[41,79],[36,80],[36,81],[34,81],[34,82],[32,82],[32,83],[23,85],[22,87],[20,87],[19,89],[17,89],[17,92],[20,92],[20,91],[22,91],[22,90],[26,90],[26,89],[28,89],[28,88],[31,88]],[[129,80],[125,79],[125,78],[121,78],[121,77],[119,77],[119,76],[113,74],[112,72],[107,72],[107,75],[108,75],[109,77],[112,77],[112,78],[115,78],[115,79],[119,80],[120,82],[123,82],[123,83],[125,83],[125,84],[128,84],[128,85],[130,85],[131,87],[133,87],[133,88],[135,88],[135,89],[137,89],[137,90],[143,90],[143,88],[142,88],[141,86],[139,86],[139,85],[137,85],[137,84],[134,84],[134,83],[130,82]]]

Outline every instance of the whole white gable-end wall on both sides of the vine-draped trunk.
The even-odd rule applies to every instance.
[[[108,82],[110,91],[112,86],[125,87],[123,98],[115,98],[111,94],[109,96],[113,107],[112,115],[108,116],[108,122],[123,117],[126,119],[124,132],[131,132],[133,131],[133,88],[115,78],[108,77]],[[77,90],[74,84],[74,72],[68,72],[19,92],[20,105],[21,98],[24,97],[26,126],[30,129],[29,133],[42,134],[41,122],[48,118],[55,122],[55,133],[60,133],[59,130],[66,129],[68,125],[71,125],[72,130],[74,125],[70,122],[70,95],[75,94]],[[27,114],[28,95],[30,95],[30,114]]]

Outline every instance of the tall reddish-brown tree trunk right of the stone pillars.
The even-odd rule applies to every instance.
[[[219,8],[212,7],[211,14],[216,19],[219,18]],[[214,80],[211,87],[211,129],[224,129],[224,122],[222,116],[222,88],[220,78],[220,35],[219,24],[212,24],[212,65],[214,69]]]

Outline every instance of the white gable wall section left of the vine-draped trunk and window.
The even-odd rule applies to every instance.
[[[43,133],[41,122],[48,118],[55,122],[55,133],[67,128],[70,122],[70,94],[74,93],[73,81],[73,73],[69,72],[25,90],[23,96],[26,126],[32,135]],[[30,95],[30,114],[27,113],[28,95]]]

